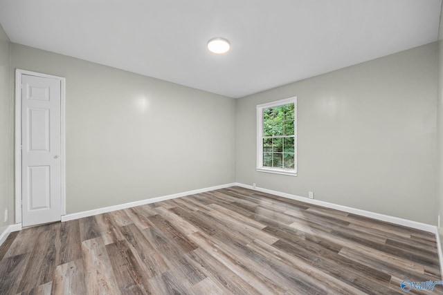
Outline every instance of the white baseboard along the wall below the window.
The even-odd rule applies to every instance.
[[[244,187],[245,189],[254,189],[251,185],[248,185],[248,184],[242,184],[242,183],[237,182],[237,183],[235,183],[235,185],[237,185],[238,187]],[[309,199],[309,198],[305,198],[305,197],[291,195],[290,193],[282,193],[280,191],[273,191],[271,189],[263,189],[261,187],[255,187],[254,190],[255,191],[262,191],[263,193],[270,193],[272,195],[280,196],[283,198],[288,198],[291,200],[305,202],[308,204],[315,204],[318,206],[323,206],[323,207],[327,207],[327,208],[331,208],[331,209],[345,211],[348,213],[354,213],[354,214],[369,217],[369,218],[374,218],[374,219],[378,219],[378,220],[382,220],[382,221],[386,221],[386,222],[391,222],[396,225],[403,225],[405,227],[412,227],[413,229],[420,229],[422,231],[429,231],[431,233],[437,232],[437,227],[435,225],[428,225],[428,224],[422,223],[422,222],[417,222],[417,221],[408,220],[408,219],[404,219],[404,218],[398,218],[398,217],[394,217],[394,216],[388,216],[388,215],[384,215],[381,213],[375,213],[375,212],[365,211],[365,210],[361,210],[361,209],[355,209],[352,207],[346,207],[346,206],[333,204],[333,203],[329,203],[329,202],[325,202],[325,201],[313,200],[313,199]]]

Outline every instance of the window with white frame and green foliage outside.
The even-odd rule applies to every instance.
[[[257,171],[297,175],[297,97],[257,106]]]

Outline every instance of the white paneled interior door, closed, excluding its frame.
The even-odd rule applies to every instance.
[[[61,82],[21,75],[22,225],[61,220]]]

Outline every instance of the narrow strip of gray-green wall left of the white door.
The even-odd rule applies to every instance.
[[[14,104],[10,90],[10,41],[0,26],[0,233],[14,218]],[[9,220],[4,222],[5,209]]]

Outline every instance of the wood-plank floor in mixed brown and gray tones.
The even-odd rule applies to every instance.
[[[403,280],[442,280],[434,234],[239,187],[0,247],[0,294],[404,294]]]

